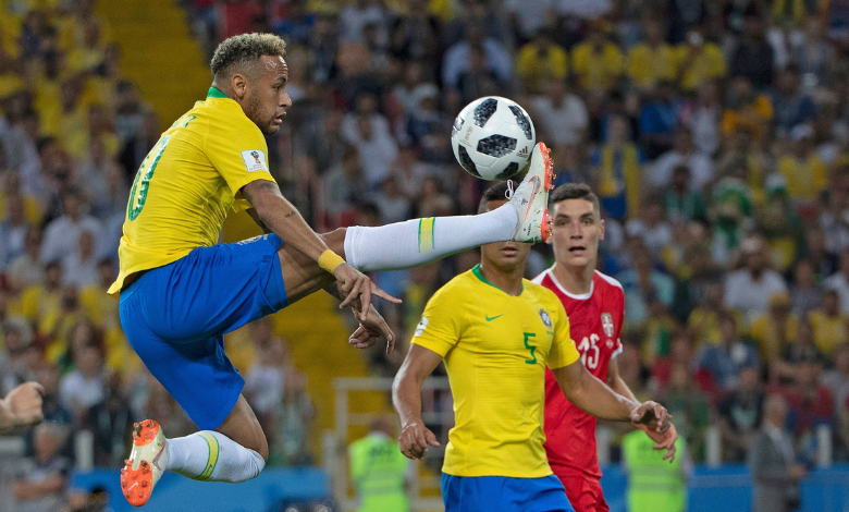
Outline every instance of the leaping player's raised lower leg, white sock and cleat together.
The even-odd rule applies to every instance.
[[[547,207],[554,180],[549,153],[545,144],[537,144],[525,180],[508,204],[492,211],[414,219],[378,228],[347,228],[345,259],[364,271],[392,270],[424,265],[493,242],[545,241],[551,233]]]

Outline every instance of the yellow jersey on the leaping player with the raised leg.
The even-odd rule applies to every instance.
[[[239,190],[274,181],[268,146],[242,107],[217,88],[168,129],[147,155],[130,193],[121,267],[109,289],[127,276],[161,267],[218,242],[227,211],[250,207]]]

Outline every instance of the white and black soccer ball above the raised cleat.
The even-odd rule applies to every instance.
[[[516,101],[499,96],[466,106],[451,130],[451,147],[466,171],[483,180],[506,180],[519,172],[533,150],[533,122]]]

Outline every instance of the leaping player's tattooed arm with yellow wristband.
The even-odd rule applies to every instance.
[[[330,251],[321,236],[307,224],[295,206],[283,197],[276,183],[269,180],[254,180],[244,185],[241,192],[256,210],[256,219],[261,222],[260,225],[280,236],[283,242],[292,245],[313,261],[318,261],[321,268],[336,278],[340,291],[345,297],[342,306],[359,300],[360,314],[367,316],[372,293],[387,301],[401,302],[380,290],[366,275]]]

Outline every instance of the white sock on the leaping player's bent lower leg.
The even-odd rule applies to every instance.
[[[256,478],[266,466],[259,453],[212,430],[169,439],[165,448],[165,470],[195,480],[238,484]]]

